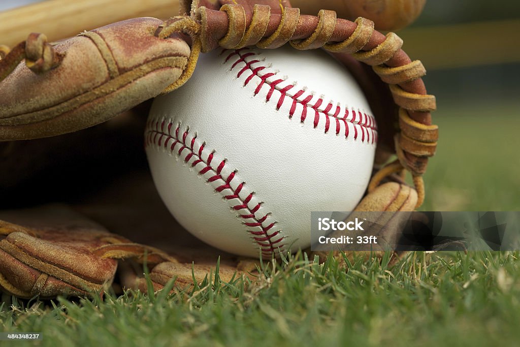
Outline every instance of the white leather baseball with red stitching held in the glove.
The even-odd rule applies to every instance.
[[[311,211],[352,211],[376,124],[340,63],[319,50],[216,50],[154,100],[145,134],[159,194],[191,234],[248,256],[310,245]]]

